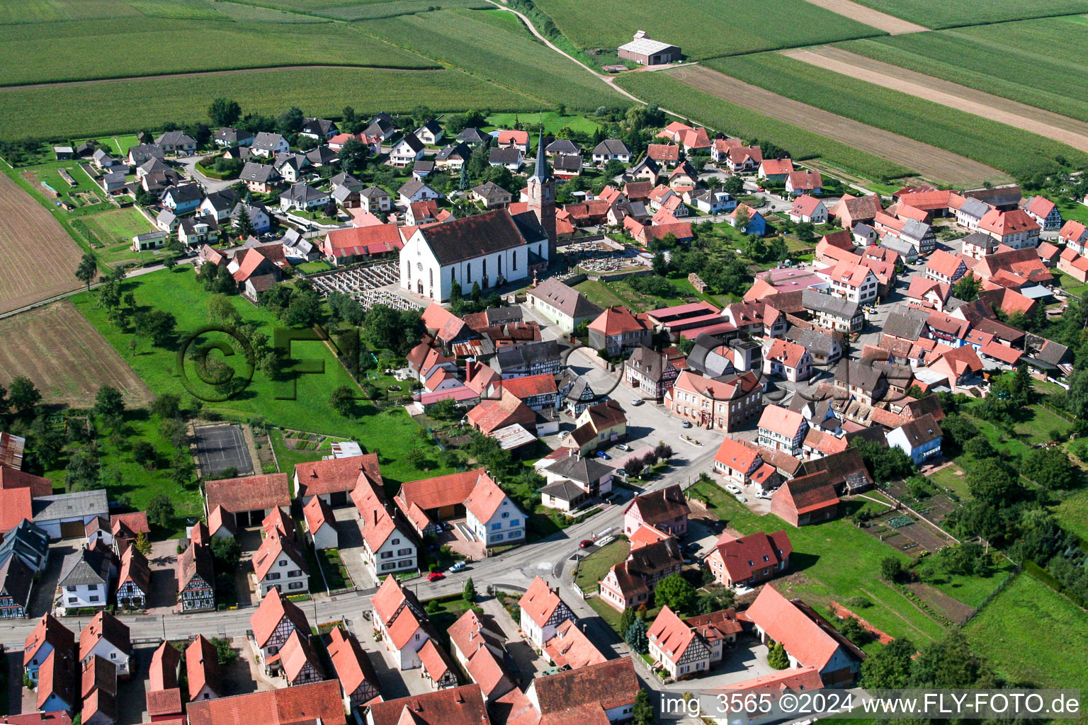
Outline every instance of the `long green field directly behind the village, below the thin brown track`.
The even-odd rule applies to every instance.
[[[109,97],[110,103],[102,103]],[[311,115],[410,111],[426,99],[442,111],[540,110],[539,99],[455,70],[301,68],[136,78],[0,90],[0,138],[72,138],[132,132],[164,121],[207,121],[212,99],[233,98],[246,113],[295,104]]]

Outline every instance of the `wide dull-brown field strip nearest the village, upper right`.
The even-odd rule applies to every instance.
[[[1006,182],[1002,172],[965,157],[772,93],[702,65],[666,71],[677,80],[731,103],[888,159],[922,176],[957,186]]]

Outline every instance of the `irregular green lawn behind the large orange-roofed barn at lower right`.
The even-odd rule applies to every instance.
[[[712,511],[743,535],[787,530],[793,543],[789,596],[814,607],[865,597],[876,604],[865,610],[865,618],[891,636],[905,635],[917,642],[940,637],[940,624],[880,579],[880,560],[898,557],[906,564],[908,558],[846,518],[793,528],[778,516],[755,515],[715,483],[696,484],[690,491],[705,497]],[[861,505],[861,501],[846,501],[845,513]]]

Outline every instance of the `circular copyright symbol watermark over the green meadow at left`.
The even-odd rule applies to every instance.
[[[236,366],[225,362],[239,353],[244,359],[240,374]],[[189,395],[205,402],[221,403],[237,397],[249,386],[254,379],[252,359],[254,348],[240,332],[227,326],[206,325],[182,340],[176,367],[182,386]],[[189,377],[189,365],[196,380]]]

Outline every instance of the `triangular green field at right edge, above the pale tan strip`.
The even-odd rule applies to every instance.
[[[910,71],[1088,121],[1079,15],[873,38],[840,46]]]

